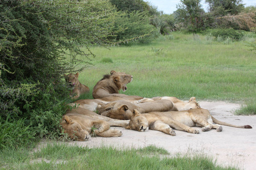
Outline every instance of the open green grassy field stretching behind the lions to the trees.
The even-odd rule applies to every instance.
[[[93,65],[80,73],[81,83],[92,88],[111,70],[133,75],[124,94],[143,97],[175,96],[188,100],[221,100],[253,105],[256,94],[256,54],[246,41],[214,41],[203,35],[174,32],[151,44],[91,47]],[[123,93],[123,92],[121,92]],[[254,111],[255,113],[255,111]]]

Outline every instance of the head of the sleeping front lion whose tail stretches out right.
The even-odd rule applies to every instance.
[[[129,125],[125,129],[133,129],[138,131],[148,130],[148,121],[147,118],[142,116],[137,109],[133,109],[133,116],[129,122]]]

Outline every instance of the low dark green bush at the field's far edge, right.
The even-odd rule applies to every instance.
[[[245,33],[243,31],[235,30],[233,28],[228,29],[207,29],[205,31],[207,34],[210,34],[214,37],[221,37],[221,39],[226,40],[228,38],[233,40],[240,40]]]

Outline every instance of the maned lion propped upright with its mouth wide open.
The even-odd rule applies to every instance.
[[[122,97],[131,100],[140,100],[143,97],[140,96],[128,96],[125,94],[119,94],[119,90],[123,92],[127,90],[127,84],[133,80],[133,76],[116,71],[110,71],[110,75],[104,75],[104,77],[96,83],[93,87],[93,98],[101,99],[108,96]]]

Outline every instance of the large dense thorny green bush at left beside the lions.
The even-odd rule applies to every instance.
[[[88,66],[93,54],[80,48],[107,43],[115,15],[108,1],[1,1],[0,147],[60,133],[71,102],[63,74]]]

